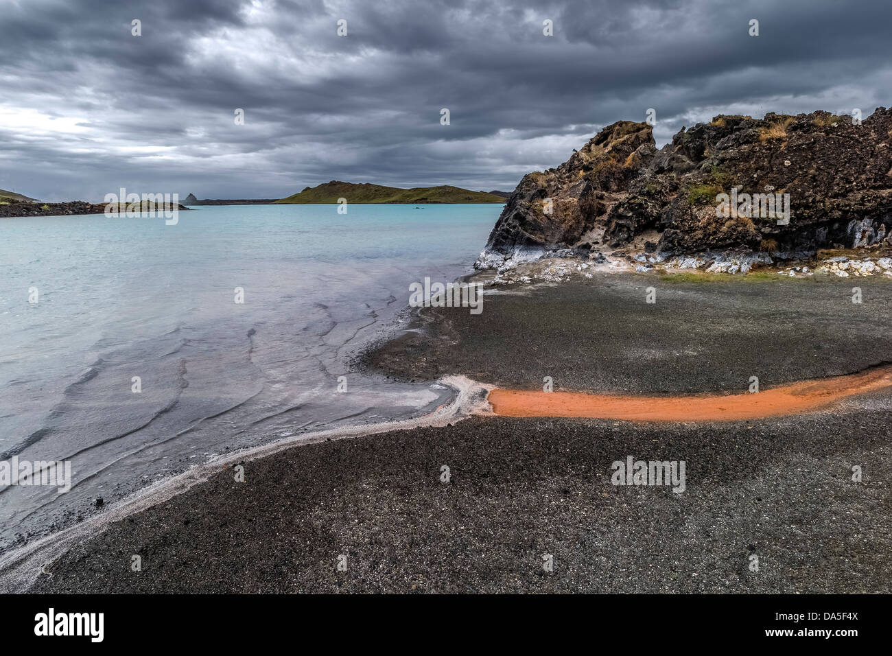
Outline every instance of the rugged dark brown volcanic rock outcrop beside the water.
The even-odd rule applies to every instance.
[[[475,266],[617,249],[814,253],[887,238],[892,110],[861,124],[828,112],[717,116],[660,150],[648,123],[619,121],[558,168],[524,176]]]

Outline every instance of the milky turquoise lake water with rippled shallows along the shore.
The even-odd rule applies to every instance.
[[[471,270],[501,208],[0,219],[0,461],[72,463],[67,494],[0,490],[0,549],[215,454],[442,402],[349,361],[389,334],[411,282]]]

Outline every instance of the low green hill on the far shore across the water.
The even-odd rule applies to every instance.
[[[498,195],[483,191],[470,191],[459,187],[382,187],[361,185],[352,182],[332,180],[318,187],[307,187],[300,194],[290,195],[277,203],[337,203],[338,198],[346,198],[348,203],[504,203]]]

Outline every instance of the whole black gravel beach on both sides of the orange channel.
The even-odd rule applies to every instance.
[[[598,276],[487,295],[476,316],[425,311],[368,360],[527,389],[739,392],[892,361],[890,291]],[[883,390],[780,419],[479,417],[298,446],[112,524],[33,590],[888,593],[890,409]],[[630,455],[685,461],[686,489],[613,486]]]

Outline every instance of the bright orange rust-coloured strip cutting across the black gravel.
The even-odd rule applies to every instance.
[[[840,399],[892,386],[892,367],[805,380],[742,394],[610,396],[496,388],[492,411],[506,417],[589,417],[630,421],[730,421],[817,411]]]

